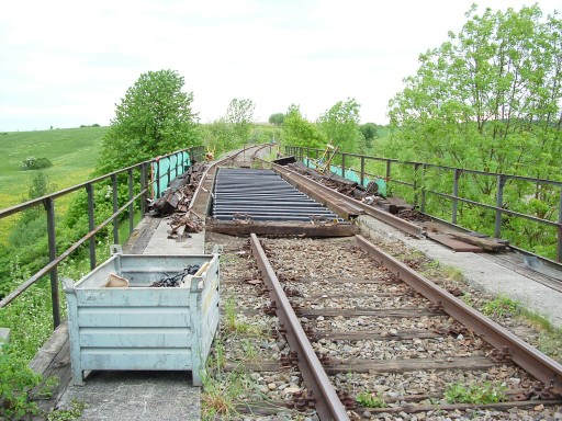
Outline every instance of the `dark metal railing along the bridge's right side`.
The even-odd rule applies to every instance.
[[[288,146],[285,147],[285,153],[286,155],[293,155],[296,159],[301,161],[305,161],[306,158],[314,158],[318,159],[318,157],[322,155],[322,149],[316,148],[305,148],[305,147],[293,147]],[[414,197],[414,205],[419,207],[419,210],[422,213],[426,212],[426,204],[428,201],[429,195],[434,195],[436,197],[443,198],[446,201],[450,202],[450,213],[449,217],[450,220],[447,220],[448,223],[452,225],[460,226],[458,224],[459,220],[459,204],[464,203],[470,206],[480,207],[482,209],[491,210],[495,214],[494,217],[494,237],[501,238],[502,235],[502,225],[505,220],[505,216],[513,216],[518,218],[524,218],[526,220],[530,220],[533,223],[537,223],[542,226],[553,227],[557,230],[557,252],[555,252],[555,261],[562,262],[562,181],[553,181],[553,180],[544,180],[544,179],[537,179],[531,177],[522,177],[522,175],[510,175],[510,174],[504,174],[504,173],[494,173],[494,172],[485,172],[485,171],[477,171],[477,170],[470,170],[465,168],[454,168],[454,167],[448,167],[448,166],[438,166],[432,163],[426,163],[426,162],[415,162],[415,161],[401,161],[397,159],[390,159],[390,158],[380,158],[380,157],[369,157],[363,155],[356,155],[356,153],[345,153],[345,152],[337,152],[335,156],[335,160],[340,164],[340,170],[342,177],[346,177],[346,172],[353,171],[357,173],[358,179],[360,181],[361,185],[366,185],[366,180],[368,178],[383,178],[389,185],[395,184],[401,186],[406,186],[412,190],[413,197]],[[349,164],[350,161],[355,161],[358,163],[359,168],[353,169],[349,166],[346,167],[346,164]],[[367,172],[366,168],[370,162],[378,162],[381,168],[384,170],[384,174],[376,175]],[[394,178],[395,172],[393,171],[393,168],[401,166],[406,167],[411,171],[411,180],[400,180],[397,178]],[[450,191],[437,191],[428,189],[428,177],[427,172],[429,170],[436,171],[440,177],[446,177],[448,173],[448,178],[441,179],[441,180],[448,180],[448,183],[440,183],[447,184],[450,186]],[[404,171],[402,171],[404,172]],[[442,175],[441,175],[442,174]],[[495,191],[494,195],[494,203],[484,203],[479,202],[475,200],[468,198],[465,194],[467,192],[461,191],[459,180],[462,174],[470,174],[474,179],[476,178],[483,178],[485,179],[485,182],[487,182],[488,185],[492,185],[493,189],[490,189],[490,191]],[[552,191],[554,191],[554,195],[558,194],[558,205],[555,206],[555,212],[552,214],[558,215],[555,220],[553,219],[547,219],[544,217],[538,217],[536,215],[529,215],[526,213],[512,210],[506,208],[506,204],[504,203],[504,193],[506,192],[506,185],[508,182],[526,182],[531,183],[533,185],[541,186],[548,186]],[[439,183],[438,183],[439,184]],[[558,191],[558,193],[555,193]],[[552,195],[551,194],[551,195]]]

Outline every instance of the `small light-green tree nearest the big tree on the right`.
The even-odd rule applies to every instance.
[[[342,151],[364,151],[363,135],[359,129],[360,107],[355,99],[348,98],[347,101],[338,101],[318,120],[326,138]]]

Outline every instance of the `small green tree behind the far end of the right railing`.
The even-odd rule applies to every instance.
[[[283,120],[283,143],[291,146],[324,148],[326,137],[314,123],[308,122],[301,113],[299,105],[292,104]]]

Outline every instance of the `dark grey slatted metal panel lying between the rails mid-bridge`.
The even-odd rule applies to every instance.
[[[271,170],[221,168],[214,189],[213,217],[220,220],[342,221]]]

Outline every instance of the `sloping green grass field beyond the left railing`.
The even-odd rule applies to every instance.
[[[55,191],[89,179],[109,127],[80,127],[0,134],[0,208],[16,205],[27,196],[37,171],[21,171],[29,157],[47,158],[53,167],[43,170]],[[65,205],[60,203],[60,205]],[[0,241],[4,241],[15,218],[0,219]]]

